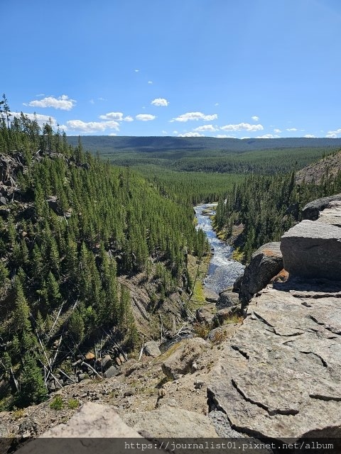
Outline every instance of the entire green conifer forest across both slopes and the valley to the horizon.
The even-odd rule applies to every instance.
[[[110,148],[107,138],[67,138],[51,123],[11,117],[6,96],[0,108],[2,410],[43,401],[55,368],[70,373],[104,334],[136,355],[136,286],[151,336],[161,314],[170,326],[169,301],[187,316],[189,259],[200,265],[209,254],[193,204],[219,201],[215,228],[247,263],[306,202],[341,190],[340,172],[296,182],[297,170],[337,153],[334,140],[219,148],[203,138],[114,138],[121,148]]]

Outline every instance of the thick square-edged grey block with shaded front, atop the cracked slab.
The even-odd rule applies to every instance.
[[[341,279],[341,228],[302,221],[281,238],[283,265],[289,276]]]

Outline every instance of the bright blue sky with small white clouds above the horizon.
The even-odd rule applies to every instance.
[[[341,137],[339,0],[0,2],[1,92],[67,135]]]

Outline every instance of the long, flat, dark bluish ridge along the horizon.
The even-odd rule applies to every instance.
[[[148,153],[162,150],[226,150],[229,153],[245,153],[252,150],[278,148],[338,148],[341,138],[276,138],[276,139],[234,139],[215,137],[154,137],[154,136],[113,136],[82,135],[85,150],[108,153],[135,151]],[[77,136],[68,136],[70,145],[77,145]]]

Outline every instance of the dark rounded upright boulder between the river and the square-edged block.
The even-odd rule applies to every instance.
[[[266,243],[251,257],[240,284],[239,301],[244,309],[259,290],[264,289],[271,279],[283,269],[281,243]]]

